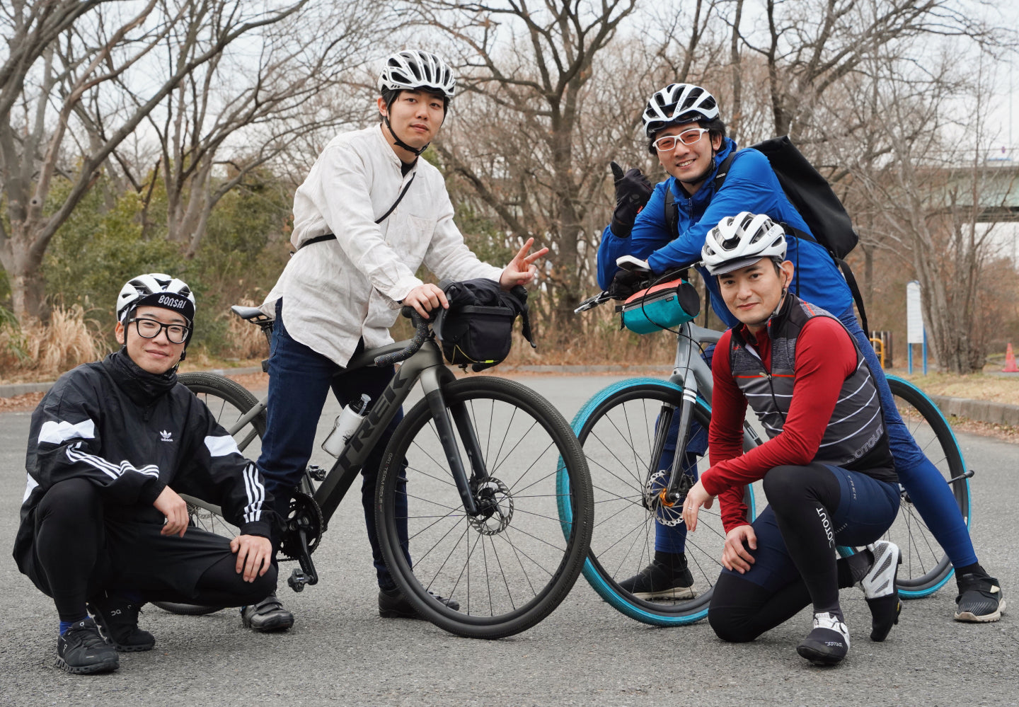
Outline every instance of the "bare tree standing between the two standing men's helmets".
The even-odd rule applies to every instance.
[[[604,147],[599,154],[581,154],[578,137],[583,130],[626,130],[635,112],[630,104],[626,120],[586,119],[597,100],[621,100],[587,90],[597,58],[635,4],[421,0],[413,5],[423,22],[454,41],[462,86],[471,92],[469,100],[457,100],[450,117],[458,122],[437,146],[441,159],[513,235],[535,234],[552,248],[546,274],[559,321],[572,317],[582,282],[586,286],[582,271],[589,254],[582,243],[595,227],[586,222],[587,211],[596,196],[604,198],[605,165],[612,157]],[[605,217],[602,207],[595,223]]]

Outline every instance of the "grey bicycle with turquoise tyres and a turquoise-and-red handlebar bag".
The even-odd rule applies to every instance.
[[[577,312],[612,298],[600,292],[582,303]],[[712,380],[701,355],[706,346],[718,341],[722,332],[687,322],[674,333],[676,361],[667,379],[633,378],[613,383],[588,400],[573,420],[591,469],[597,513],[584,577],[613,607],[654,626],[692,623],[707,615],[714,582],[721,570],[719,559],[726,535],[717,505],[709,510],[702,508],[698,532],[686,536],[693,596],[642,599],[620,586],[651,561],[658,524],[682,525],[686,491],[696,483],[698,471],[709,466],[704,431],[710,422]],[[889,376],[888,381],[903,421],[952,487],[968,525],[969,478],[973,472],[965,469],[952,428],[919,388],[895,376]],[[697,423],[696,428],[692,428],[692,422]],[[745,448],[761,443],[754,423],[745,423]],[[697,428],[700,432],[696,432]],[[900,596],[924,597],[945,585],[954,569],[909,494],[905,489],[901,494],[899,515],[886,537],[903,552],[898,579]],[[749,509],[747,520],[752,521],[752,486],[746,487],[744,502]],[[852,548],[839,551],[853,552]]]

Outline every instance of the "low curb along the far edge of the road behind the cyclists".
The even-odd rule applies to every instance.
[[[619,373],[621,375],[662,374],[668,373],[672,367],[666,366],[503,366],[504,373]],[[206,373],[220,375],[246,375],[261,373],[261,366],[245,368],[211,369]],[[23,393],[44,393],[53,387],[53,382],[47,383],[11,383],[0,385],[0,397],[11,397]],[[933,403],[948,417],[967,418],[991,425],[1008,425],[1019,427],[1019,405],[989,400],[971,400],[964,397],[949,397],[948,395],[928,395]]]

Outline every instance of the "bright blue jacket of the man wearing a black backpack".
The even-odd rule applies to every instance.
[[[714,175],[718,165],[737,150],[727,138],[715,155],[715,166],[701,187],[692,197],[679,185],[675,177],[658,183],[644,210],[637,215],[629,238],[619,238],[608,226],[601,235],[598,249],[598,285],[605,289],[619,268],[615,259],[632,255],[646,259],[651,269],[661,273],[686,267],[701,259],[701,248],[707,232],[727,216],[741,211],[767,214],[776,222],[788,223],[806,233],[810,229],[799,212],[789,203],[779,178],[767,158],[757,150],[740,150],[729,168],[729,175],[715,194]],[[673,238],[665,223],[665,189],[672,189],[679,207],[679,237]],[[793,291],[801,300],[827,310],[835,315],[849,311],[853,296],[849,285],[827,252],[815,242],[792,237],[786,256],[796,266]],[[718,283],[703,268],[698,268],[711,292],[711,308],[728,326],[737,324],[718,292]]]

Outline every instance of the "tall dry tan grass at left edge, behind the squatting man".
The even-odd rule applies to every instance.
[[[46,380],[102,358],[105,343],[78,305],[56,307],[48,324],[29,321],[0,329],[0,380]]]

